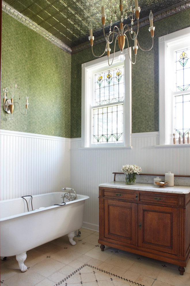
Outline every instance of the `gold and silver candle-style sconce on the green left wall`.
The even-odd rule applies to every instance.
[[[16,79],[13,80],[13,84],[11,83],[11,86],[10,86],[10,89],[8,90],[8,88],[4,87],[3,88],[3,103],[4,103],[4,110],[8,113],[8,114],[11,114],[11,116],[9,117],[9,119],[13,119],[13,116],[12,116],[12,113],[13,113],[13,110],[14,110],[14,104],[15,103],[18,103],[17,101],[13,102],[13,99],[14,99],[14,95],[17,94],[19,96],[19,102],[20,102],[20,96],[22,95],[22,92],[20,91],[20,88],[21,86],[19,84],[16,83]],[[6,93],[7,92],[10,92],[11,93],[11,99],[6,99],[7,96],[6,96]],[[27,112],[27,108],[28,108],[28,96],[26,96],[26,112]],[[18,106],[19,106],[19,109],[20,109],[20,104],[18,103]],[[20,113],[22,115],[25,115],[25,113],[22,113],[21,110],[20,110]]]

